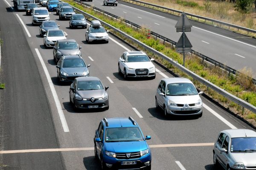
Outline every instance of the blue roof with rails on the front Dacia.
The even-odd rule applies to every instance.
[[[105,118],[106,119],[106,118]],[[138,127],[137,122],[134,119],[129,118],[108,118],[106,119],[108,122],[107,128],[113,128],[113,127]],[[105,125],[107,124],[105,120],[103,119],[103,122]],[[135,123],[135,125],[134,125]]]

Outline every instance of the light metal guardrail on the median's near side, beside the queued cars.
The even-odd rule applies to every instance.
[[[78,0],[75,0],[77,2],[79,2]],[[139,40],[131,37],[128,34],[125,34],[125,32],[111,26],[108,23],[105,23],[104,21],[94,17],[93,15],[87,14],[84,11],[81,11],[79,8],[76,8],[73,6],[73,8],[75,8],[77,11],[81,12],[82,14],[89,16],[91,18],[93,18],[94,20],[99,20],[103,26],[107,26],[108,28],[111,28],[113,31],[118,32],[119,34],[121,34],[122,36],[128,38],[129,40],[139,44],[140,46],[142,46],[143,48],[145,48],[147,51],[152,52],[153,54],[161,57],[162,59],[165,59],[167,61],[169,61],[172,65],[174,65],[175,67],[179,68],[181,71],[185,72],[186,74],[188,74],[190,77],[192,77],[193,79],[201,82],[202,84],[206,85],[207,87],[211,88],[212,90],[216,91],[218,94],[221,94],[222,96],[226,97],[227,99],[235,102],[238,105],[241,105],[244,108],[247,108],[248,110],[252,111],[253,113],[256,113],[256,107],[251,105],[248,102],[245,102],[244,100],[234,96],[233,94],[228,93],[227,91],[219,88],[218,86],[214,85],[213,83],[209,82],[208,80],[198,76],[197,74],[193,73],[192,71],[190,71],[189,69],[183,67],[182,65],[180,65],[178,62],[174,61],[173,59],[169,58],[168,56],[160,53],[159,51],[155,50],[154,48],[149,47],[148,45],[145,45],[144,43],[140,42]],[[95,8],[95,7],[93,7]]]

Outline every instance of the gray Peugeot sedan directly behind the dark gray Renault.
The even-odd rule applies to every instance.
[[[56,65],[60,82],[72,82],[76,77],[89,76],[89,70],[81,56],[63,56]]]

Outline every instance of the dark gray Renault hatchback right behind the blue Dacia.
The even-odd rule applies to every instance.
[[[97,77],[77,77],[70,85],[70,103],[74,108],[102,108],[108,110],[108,87]]]

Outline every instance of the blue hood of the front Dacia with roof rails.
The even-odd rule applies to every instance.
[[[105,150],[114,153],[140,152],[148,149],[145,141],[105,142]]]

